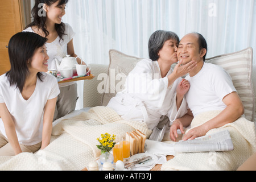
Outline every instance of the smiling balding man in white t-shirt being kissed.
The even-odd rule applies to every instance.
[[[201,34],[196,32],[185,35],[177,49],[177,56],[180,61],[182,60],[182,64],[192,60],[197,63],[197,67],[185,78],[191,84],[185,96],[188,107],[192,111],[189,114],[195,117],[197,114],[212,110],[221,110],[221,113],[203,125],[189,130],[183,140],[204,136],[211,129],[236,121],[244,112],[232,78],[221,67],[205,63],[206,54],[207,42]],[[191,122],[189,115],[177,119],[170,129],[171,139],[176,141],[177,129],[184,134],[183,127],[189,126]]]

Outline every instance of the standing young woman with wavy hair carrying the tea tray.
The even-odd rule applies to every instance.
[[[48,39],[46,43],[49,55],[48,70],[57,68],[55,58],[61,61],[67,55],[77,57],[73,47],[75,32],[69,24],[61,22],[67,3],[68,0],[35,0],[35,6],[32,9],[34,20],[24,30]],[[79,64],[81,61],[77,59]],[[82,62],[82,64],[85,63]],[[59,84],[59,88],[60,94],[57,98],[53,120],[75,110],[78,100],[76,82]]]

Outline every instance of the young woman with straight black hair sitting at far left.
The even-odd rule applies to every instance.
[[[9,42],[11,69],[0,76],[0,156],[47,147],[56,97],[55,77],[48,75],[46,38],[19,32]]]

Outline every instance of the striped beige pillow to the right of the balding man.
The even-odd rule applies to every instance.
[[[229,73],[245,107],[245,118],[254,121],[255,97],[251,80],[253,49],[250,47],[242,51],[212,57],[205,60],[205,63],[220,65]]]

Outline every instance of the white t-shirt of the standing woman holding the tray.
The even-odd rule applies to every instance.
[[[54,59],[56,58],[57,60],[59,60],[59,63],[60,63],[63,57],[67,56],[68,54],[67,45],[75,36],[75,32],[73,31],[72,27],[68,23],[64,23],[64,24],[65,24],[65,32],[63,35],[63,40],[62,39],[60,40],[60,37],[57,36],[57,38],[53,42],[46,43],[47,55],[49,56],[48,70],[57,69],[56,61]],[[23,31],[35,33],[31,27],[28,27],[26,30],[23,30]],[[76,82],[68,82],[64,84],[59,84],[59,87],[68,86],[75,83]]]

